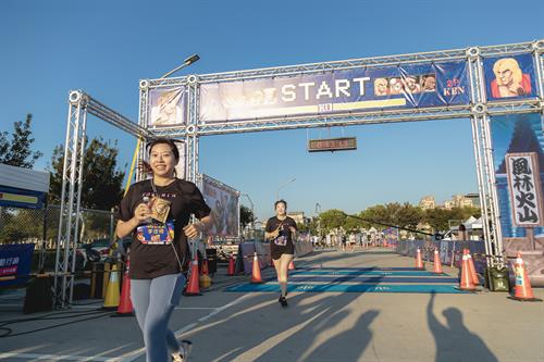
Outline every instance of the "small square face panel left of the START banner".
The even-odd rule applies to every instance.
[[[149,90],[149,126],[174,126],[185,123],[185,87]]]

